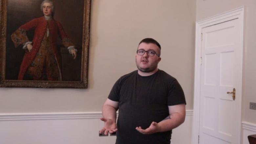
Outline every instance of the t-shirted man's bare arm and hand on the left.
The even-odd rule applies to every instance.
[[[104,127],[99,131],[107,135],[108,133],[112,134],[117,131],[116,119],[117,119],[117,110],[119,102],[107,99],[102,107],[103,117],[100,120],[104,121]]]

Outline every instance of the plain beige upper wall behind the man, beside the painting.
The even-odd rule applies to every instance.
[[[0,113],[101,111],[110,89],[136,70],[139,41],[162,46],[159,68],[176,77],[193,109],[196,0],[92,0],[88,89],[0,88]]]

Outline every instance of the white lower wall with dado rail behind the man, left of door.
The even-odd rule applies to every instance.
[[[190,144],[192,110],[173,130],[172,144]],[[98,136],[101,112],[0,113],[0,144],[114,144],[116,136]]]

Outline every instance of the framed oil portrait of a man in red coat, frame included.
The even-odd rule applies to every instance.
[[[1,1],[0,86],[87,88],[90,5]]]

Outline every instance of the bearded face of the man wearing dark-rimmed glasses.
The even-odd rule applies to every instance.
[[[141,43],[138,46],[138,50],[144,51],[155,51],[154,56],[149,56],[147,52],[143,55],[136,54],[136,65],[139,71],[141,72],[153,72],[157,69],[157,65],[160,62],[161,58],[158,57],[160,54],[160,49],[156,44],[153,43]]]

